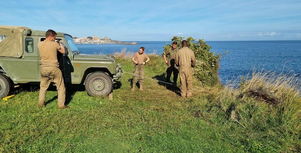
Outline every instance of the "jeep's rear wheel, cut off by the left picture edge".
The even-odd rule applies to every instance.
[[[8,96],[12,89],[12,82],[6,75],[0,73],[0,98]]]

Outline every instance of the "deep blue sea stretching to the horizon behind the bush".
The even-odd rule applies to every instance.
[[[252,73],[253,69],[301,74],[301,40],[296,41],[206,41],[212,52],[228,51],[220,61],[219,77],[222,83]],[[126,48],[138,52],[161,54],[170,41],[141,41],[137,45],[76,44],[83,54],[113,54]],[[163,58],[162,58],[163,60]]]

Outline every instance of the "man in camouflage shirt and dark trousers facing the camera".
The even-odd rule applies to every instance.
[[[167,69],[166,69],[166,80],[165,82],[169,82],[171,73],[173,73],[173,87],[177,87],[177,79],[178,79],[178,74],[179,74],[179,69],[178,66],[175,65],[175,54],[178,51],[177,47],[177,42],[173,42],[172,46],[163,52],[163,58],[165,63],[167,64]],[[167,59],[166,59],[167,57]],[[165,83],[165,88],[166,88],[166,83]]]

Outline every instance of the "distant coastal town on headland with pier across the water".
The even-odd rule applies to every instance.
[[[76,44],[123,44],[123,45],[137,45],[137,42],[121,42],[118,40],[112,40],[108,37],[101,39],[98,36],[93,37],[73,37],[73,41]]]

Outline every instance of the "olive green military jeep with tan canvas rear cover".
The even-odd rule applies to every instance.
[[[0,26],[0,98],[15,86],[40,82],[38,43],[45,40],[45,33],[28,27]],[[122,76],[121,64],[106,55],[80,54],[67,33],[57,33],[58,40],[63,41],[66,52],[59,62],[67,85],[83,84],[90,96],[109,95],[114,80]]]

